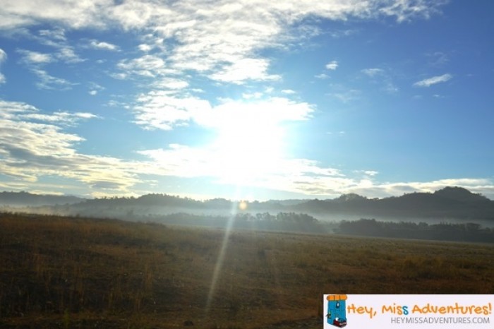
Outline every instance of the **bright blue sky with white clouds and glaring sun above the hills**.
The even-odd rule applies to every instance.
[[[493,1],[0,0],[0,190],[494,199]]]

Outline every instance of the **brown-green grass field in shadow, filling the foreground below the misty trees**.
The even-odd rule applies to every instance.
[[[323,294],[494,293],[493,245],[224,236],[0,215],[0,328],[322,328]]]

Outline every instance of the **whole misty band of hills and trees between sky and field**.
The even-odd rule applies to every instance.
[[[44,205],[43,205],[44,203]],[[4,211],[195,227],[494,242],[494,201],[459,187],[368,199],[197,201],[166,194],[81,199],[1,193]]]

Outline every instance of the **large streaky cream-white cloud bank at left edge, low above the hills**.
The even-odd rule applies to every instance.
[[[0,172],[31,182],[45,175],[64,177],[100,190],[132,186],[137,182],[132,163],[81,154],[76,145],[84,138],[62,128],[93,118],[88,112],[41,113],[29,104],[0,100]]]

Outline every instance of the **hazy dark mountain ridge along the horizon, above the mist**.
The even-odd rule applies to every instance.
[[[215,210],[231,211],[236,202],[223,198],[197,201],[167,194],[147,194],[138,198],[84,199],[73,196],[40,196],[26,192],[0,193],[0,205],[42,206],[49,211],[56,206],[66,213],[81,215],[153,215],[169,211],[193,210],[208,213]],[[360,217],[436,218],[460,220],[493,220],[494,201],[471,193],[462,187],[445,187],[433,193],[406,193],[388,198],[366,198],[349,193],[327,200],[253,201],[248,203],[248,212],[265,213],[288,211],[320,215],[356,215]]]

